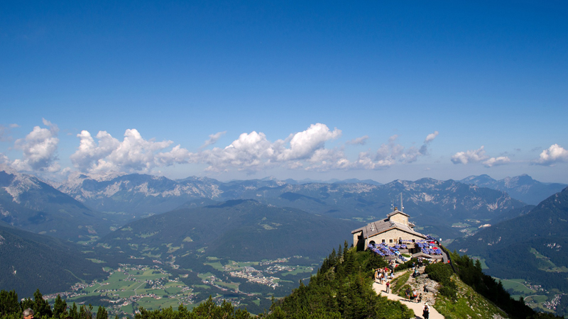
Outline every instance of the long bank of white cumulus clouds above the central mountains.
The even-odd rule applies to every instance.
[[[93,138],[87,131],[82,131],[77,138],[80,145],[71,156],[77,169],[83,172],[148,172],[156,167],[173,164],[207,164],[208,172],[226,172],[231,169],[253,173],[262,169],[282,167],[287,169],[305,169],[327,171],[330,169],[381,169],[390,167],[395,162],[413,162],[417,157],[427,154],[425,148],[437,133],[427,136],[425,145],[420,149],[405,149],[396,143],[397,135],[381,145],[376,152],[361,152],[359,158],[350,161],[344,154],[344,146],[326,147],[326,143],[339,138],[342,131],[327,125],[315,123],[306,130],[292,133],[283,140],[268,140],[262,132],[242,133],[226,147],[212,145],[225,132],[209,135],[200,150],[190,152],[172,141],[155,142],[145,140],[138,130],[126,130],[124,140],[113,138],[109,133],[100,131]],[[368,138],[364,136],[350,141],[350,144],[362,144]],[[171,148],[170,148],[171,147]]]

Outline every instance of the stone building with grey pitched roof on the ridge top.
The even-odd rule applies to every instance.
[[[426,235],[414,230],[415,225],[408,221],[408,214],[394,208],[385,219],[368,223],[364,227],[351,231],[353,234],[353,245],[357,250],[366,250],[369,244],[383,243],[385,245],[396,245],[399,243],[415,242],[425,240]],[[409,250],[417,250],[415,245],[409,245]]]

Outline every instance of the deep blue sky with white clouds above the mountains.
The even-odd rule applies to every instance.
[[[563,1],[114,2],[0,4],[0,162],[568,183]]]

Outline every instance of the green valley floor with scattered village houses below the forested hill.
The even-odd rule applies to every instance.
[[[184,274],[184,269],[180,269],[174,261],[162,262],[155,259],[153,266],[120,264],[118,269],[103,268],[109,274],[104,281],[77,283],[70,291],[51,293],[43,298],[53,302],[60,295],[69,306],[74,302],[77,305],[104,306],[109,314],[119,316],[133,316],[141,307],[148,310],[170,306],[177,308],[180,305],[192,308],[209,296],[218,304],[226,300],[234,306],[241,306],[243,298],[238,298],[239,296],[271,298],[266,293],[241,291],[239,286],[242,282],[266,286],[274,291],[283,281],[288,281],[286,276],[290,274],[302,274],[303,277],[310,278],[315,265],[290,266],[290,259],[303,257],[283,257],[259,262],[229,261],[226,264],[221,264],[216,257],[208,257],[206,264],[222,272],[224,276],[211,272],[199,273],[197,276],[201,281],[197,283],[187,281],[188,274]],[[168,272],[166,269],[180,272],[172,274],[171,270]],[[216,292],[213,287],[217,288]]]

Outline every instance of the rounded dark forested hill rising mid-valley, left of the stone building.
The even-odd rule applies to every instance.
[[[351,237],[361,223],[305,213],[294,208],[234,200],[181,208],[136,220],[101,240],[126,255],[197,254],[233,260],[324,256],[333,242]],[[183,262],[183,259],[179,259]]]

